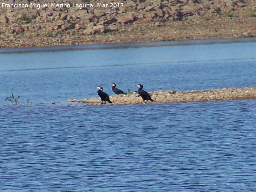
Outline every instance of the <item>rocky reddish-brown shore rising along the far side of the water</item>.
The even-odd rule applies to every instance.
[[[108,6],[97,7],[98,3]],[[124,5],[111,8],[110,3]],[[7,0],[4,4],[29,8],[0,4],[0,48],[256,36],[254,0]],[[49,6],[38,9],[35,4]]]

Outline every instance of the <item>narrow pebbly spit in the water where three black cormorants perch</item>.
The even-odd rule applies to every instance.
[[[212,89],[202,91],[186,91],[175,92],[169,91],[153,91],[149,92],[152,99],[157,103],[173,103],[173,102],[191,102],[191,101],[214,101],[214,100],[244,100],[244,99],[256,99],[256,87],[245,88],[223,88]],[[124,104],[141,104],[142,98],[138,92],[132,94],[119,94],[116,96],[110,96],[110,100],[113,102],[107,105],[124,105]],[[90,103],[90,105],[100,105],[100,98],[90,99],[68,99],[67,102],[83,102]],[[148,101],[148,103],[155,103]]]

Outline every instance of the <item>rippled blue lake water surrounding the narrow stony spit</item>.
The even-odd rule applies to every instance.
[[[66,103],[99,85],[114,95],[111,83],[255,86],[255,48],[246,38],[0,50],[0,191],[256,191],[256,100]],[[4,101],[12,92],[17,106]]]

